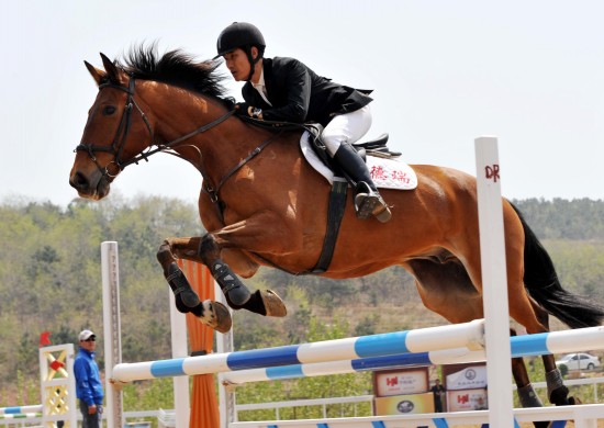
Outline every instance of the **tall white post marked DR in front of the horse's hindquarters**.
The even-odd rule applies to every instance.
[[[512,350],[497,138],[479,137],[474,140],[474,145],[489,383],[489,425],[512,428],[514,427],[511,387]]]

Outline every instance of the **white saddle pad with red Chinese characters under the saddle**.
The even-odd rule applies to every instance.
[[[334,172],[325,166],[316,156],[309,134],[302,134],[300,148],[311,166],[329,182],[334,182]],[[384,159],[376,156],[367,157],[367,167],[376,185],[380,189],[412,190],[417,187],[415,171],[405,162],[399,159]]]

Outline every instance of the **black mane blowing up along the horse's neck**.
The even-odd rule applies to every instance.
[[[135,79],[161,81],[215,98],[221,98],[226,92],[222,86],[225,75],[216,71],[219,61],[198,63],[180,49],[170,50],[159,57],[156,44],[149,47],[137,46],[130,50],[124,60],[124,65],[116,61],[118,66]]]

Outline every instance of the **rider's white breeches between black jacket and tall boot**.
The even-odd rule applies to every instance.
[[[369,131],[371,122],[369,105],[351,113],[334,116],[321,134],[329,156],[334,157],[340,144],[358,142]]]

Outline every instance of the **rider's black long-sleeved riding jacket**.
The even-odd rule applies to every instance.
[[[372,101],[368,97],[371,91],[335,83],[294,58],[264,58],[262,70],[272,106],[249,81],[242,94],[248,104],[262,109],[265,121],[317,122],[326,126],[334,115],[354,112]]]

